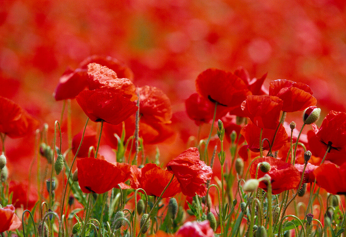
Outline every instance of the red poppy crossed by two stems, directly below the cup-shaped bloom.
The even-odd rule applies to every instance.
[[[253,152],[260,152],[260,133],[261,129],[249,121],[240,133],[245,137],[248,149]],[[273,140],[275,130],[273,129],[263,129],[262,140],[267,138],[270,142]],[[287,133],[285,128],[280,124],[279,130],[276,133],[275,141],[272,147],[272,151],[277,151],[282,148],[283,145],[287,143]],[[263,143],[263,150],[269,150],[270,146],[267,141]]]

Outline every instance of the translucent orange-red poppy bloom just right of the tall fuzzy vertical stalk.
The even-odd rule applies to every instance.
[[[140,120],[147,124],[171,123],[171,101],[161,89],[154,86],[137,88]]]

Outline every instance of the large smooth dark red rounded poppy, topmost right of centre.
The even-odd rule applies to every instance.
[[[246,96],[251,95],[242,79],[216,68],[209,68],[199,74],[196,79],[196,88],[204,98],[228,107],[240,106]]]

